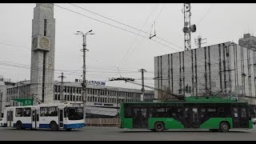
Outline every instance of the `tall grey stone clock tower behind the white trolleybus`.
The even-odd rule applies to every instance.
[[[32,20],[30,94],[45,103],[54,101],[54,51],[54,4],[37,3]]]

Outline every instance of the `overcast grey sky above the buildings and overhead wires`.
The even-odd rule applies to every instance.
[[[148,71],[145,77],[151,78],[151,80],[146,79],[145,84],[154,86],[152,80],[154,78],[154,57],[184,50],[182,3],[75,4],[133,26],[138,30],[122,26],[68,3],[57,3],[56,5],[142,35],[144,33],[139,33],[138,30],[142,29],[144,23],[145,26],[142,30],[149,30],[150,33],[150,26],[158,17],[155,22],[157,36],[182,47],[182,49],[158,38],[153,38],[166,45],[162,46],[149,38],[142,38],[136,34],[54,6],[54,18],[56,19],[55,80],[60,80],[58,76],[60,76],[62,70],[68,70],[63,71],[66,76],[65,81],[74,82],[74,78],[82,79],[82,52],[79,51],[82,49],[82,36],[74,34],[78,30],[83,32],[94,30],[95,33],[87,36],[87,48],[90,51],[86,54],[88,71],[86,79],[89,80],[107,81],[108,78],[120,77],[118,70],[120,70],[122,77],[137,79],[141,78],[138,69],[143,68]],[[238,38],[241,38],[248,30],[251,34],[254,34],[256,31],[255,6],[256,4],[250,3],[192,3],[191,24],[197,25],[197,32],[191,34],[192,48],[196,47],[194,38],[197,38],[198,34],[202,38],[207,38],[207,43],[202,46],[227,41],[238,43]],[[21,65],[30,66],[34,7],[35,3],[0,4],[0,75],[3,75],[4,78],[11,78],[13,82],[25,78],[30,79],[30,69],[24,69],[24,66]],[[159,14],[161,10],[162,12]],[[198,22],[200,22],[199,25]],[[149,37],[149,34],[146,34],[146,37]],[[4,66],[6,62],[12,63]],[[18,65],[10,66],[14,63],[18,63]],[[141,80],[136,82],[141,83]],[[125,82],[106,82],[106,85],[141,89],[141,86]]]

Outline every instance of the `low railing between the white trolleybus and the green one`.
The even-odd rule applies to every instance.
[[[119,127],[119,118],[86,118],[86,126],[114,126]]]

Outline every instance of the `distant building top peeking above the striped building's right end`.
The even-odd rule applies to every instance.
[[[250,34],[243,34],[243,38],[240,38],[238,40],[238,44],[239,46],[256,50],[256,38]]]

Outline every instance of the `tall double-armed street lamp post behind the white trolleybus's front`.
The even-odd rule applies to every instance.
[[[77,31],[77,34],[82,34],[82,38],[83,38],[83,43],[82,43],[82,52],[83,52],[83,80],[82,80],[82,90],[83,90],[83,118],[85,120],[86,123],[86,35],[87,34],[93,34],[90,33],[93,30],[90,30],[88,32],[86,32],[86,34],[83,34],[81,31]],[[89,50],[87,50],[89,51]]]

